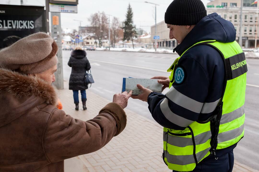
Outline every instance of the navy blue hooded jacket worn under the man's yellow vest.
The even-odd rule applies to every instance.
[[[235,39],[233,24],[213,13],[200,20],[174,51],[181,56],[185,50],[200,41],[228,43]],[[193,121],[205,121],[212,116],[212,111],[206,110],[202,105],[213,105],[214,102],[216,107],[223,92],[225,69],[220,53],[208,45],[190,48],[179,59],[177,67],[184,70],[182,83],[174,82],[166,95],[151,93],[148,108],[161,126],[184,130]],[[163,101],[166,102],[162,103]]]

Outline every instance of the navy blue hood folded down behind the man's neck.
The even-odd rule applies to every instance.
[[[193,44],[205,40],[217,40],[222,43],[235,41],[236,31],[234,25],[230,21],[221,18],[217,13],[207,15],[196,24],[174,51],[181,56]]]

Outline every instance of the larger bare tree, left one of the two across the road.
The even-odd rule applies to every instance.
[[[108,18],[104,12],[102,13],[94,13],[90,16],[89,21],[91,26],[95,27],[94,34],[95,39],[99,42],[99,47],[102,46],[103,39],[107,36],[108,32]],[[95,40],[96,44],[97,41]]]

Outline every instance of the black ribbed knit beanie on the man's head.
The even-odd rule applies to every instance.
[[[195,25],[206,15],[201,0],[174,0],[166,10],[164,21],[173,25]]]

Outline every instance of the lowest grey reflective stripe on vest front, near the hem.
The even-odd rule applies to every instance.
[[[202,158],[209,152],[210,148],[205,149],[196,153],[197,161],[199,162]],[[191,163],[195,163],[195,159],[193,154],[191,155],[171,155],[169,152],[166,152],[165,157],[167,158],[167,162],[177,165],[188,165]]]

